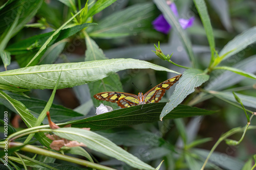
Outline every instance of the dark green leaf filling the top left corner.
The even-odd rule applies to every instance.
[[[17,26],[15,30],[12,32],[12,36],[14,36],[19,30],[21,30],[24,25],[31,20],[32,17],[36,14],[37,10],[40,8],[42,4],[42,0],[23,0],[23,1],[13,1],[2,8],[0,12],[0,34],[13,23],[18,10],[20,9],[22,13],[18,19]]]

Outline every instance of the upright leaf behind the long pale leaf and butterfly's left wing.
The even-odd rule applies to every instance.
[[[87,44],[86,61],[108,59],[105,57],[101,48],[99,48],[96,42],[93,39],[91,39],[89,36],[86,36],[86,44]],[[105,105],[110,105],[113,109],[119,108],[117,104],[109,103],[106,101],[102,102],[93,98],[94,94],[103,92],[103,91],[121,91],[122,92],[123,91],[122,84],[117,74],[113,74],[104,79],[89,83],[88,86],[90,88],[90,93],[93,99],[94,106],[98,107],[101,103],[104,103]]]

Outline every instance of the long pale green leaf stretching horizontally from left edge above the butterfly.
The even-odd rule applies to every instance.
[[[110,59],[79,63],[38,65],[0,72],[0,84],[29,89],[53,89],[62,71],[58,88],[94,82],[114,72],[132,68],[152,68],[175,72],[150,62],[135,59]],[[179,73],[177,73],[179,74]]]

